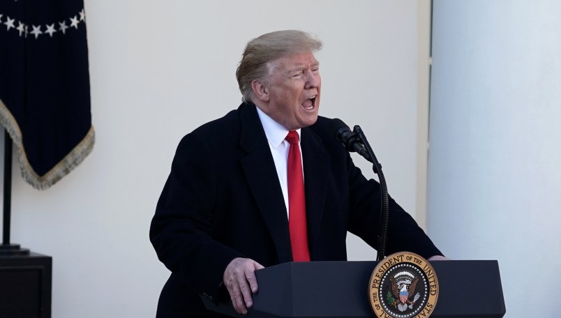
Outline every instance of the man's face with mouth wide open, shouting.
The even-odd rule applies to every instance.
[[[255,104],[287,130],[296,130],[317,120],[321,86],[320,63],[313,53],[283,56],[271,63]]]

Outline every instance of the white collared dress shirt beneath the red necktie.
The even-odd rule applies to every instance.
[[[288,181],[286,175],[290,143],[285,140],[288,130],[265,114],[259,107],[255,106],[255,108],[257,108],[257,114],[269,142],[269,149],[271,149],[271,155],[273,155],[276,174],[280,182],[280,189],[283,190],[286,212],[288,214]],[[300,146],[300,130],[298,129],[296,132],[298,133],[298,146]],[[302,147],[300,147],[300,156],[302,156]],[[304,169],[304,160],[302,160],[302,169]],[[304,172],[302,172],[302,175],[304,176]]]

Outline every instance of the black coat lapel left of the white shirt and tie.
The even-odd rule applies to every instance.
[[[257,207],[274,241],[278,261],[292,261],[287,211],[275,163],[255,105],[240,107],[240,146],[247,152],[241,166]]]

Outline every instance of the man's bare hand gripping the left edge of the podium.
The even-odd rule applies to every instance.
[[[223,282],[230,293],[232,305],[240,314],[247,314],[253,305],[251,294],[257,292],[257,278],[255,271],[264,268],[253,259],[237,257],[226,266]]]

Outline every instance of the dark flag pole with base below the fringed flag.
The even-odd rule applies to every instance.
[[[4,130],[4,191],[3,191],[3,229],[0,255],[29,255],[27,248],[10,243],[10,223],[12,216],[12,139]]]

